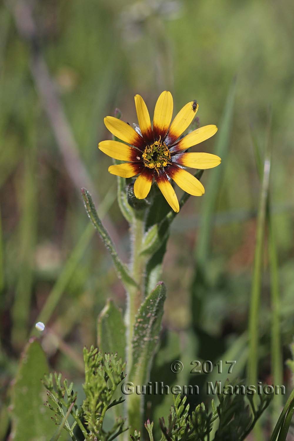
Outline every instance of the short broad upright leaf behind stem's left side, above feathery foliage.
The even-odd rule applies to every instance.
[[[100,312],[97,323],[98,348],[102,353],[117,352],[118,358],[126,359],[126,326],[122,311],[109,299]]]

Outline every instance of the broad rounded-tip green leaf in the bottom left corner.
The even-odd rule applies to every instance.
[[[54,434],[54,424],[44,406],[44,374],[48,374],[45,352],[37,340],[31,339],[23,352],[12,391],[14,441],[47,441]]]

